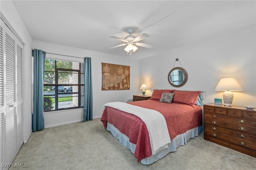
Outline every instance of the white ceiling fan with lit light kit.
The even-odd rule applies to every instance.
[[[110,37],[110,38],[118,39],[120,41],[125,42],[124,44],[120,44],[120,45],[116,45],[114,47],[110,47],[110,49],[114,49],[116,47],[121,47],[121,46],[127,45],[124,50],[127,51],[127,53],[130,52],[130,55],[132,55],[132,51],[134,52],[138,49],[138,47],[136,47],[136,45],[140,46],[140,47],[150,48],[150,49],[153,47],[153,45],[138,42],[142,39],[150,37],[148,34],[143,33],[142,35],[139,35],[138,37],[135,37],[134,35],[132,35],[132,32],[133,32],[132,28],[129,28],[127,31],[129,33],[129,35],[126,36],[124,39],[118,38],[118,37],[115,37],[115,36]]]

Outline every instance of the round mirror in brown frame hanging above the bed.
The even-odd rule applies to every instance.
[[[174,87],[181,87],[188,81],[188,73],[184,68],[175,67],[168,74],[168,82]]]

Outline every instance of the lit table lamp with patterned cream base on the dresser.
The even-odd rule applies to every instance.
[[[221,78],[215,90],[225,91],[223,93],[224,106],[232,106],[234,94],[231,91],[243,91],[235,78]]]

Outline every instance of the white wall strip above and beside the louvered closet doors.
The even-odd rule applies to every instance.
[[[18,14],[12,1],[0,2],[1,17],[6,18],[6,21],[10,23],[12,30],[19,35],[20,39],[24,43],[24,70],[23,70],[23,140],[24,143],[28,140],[32,133],[32,37],[24,25],[20,15]]]

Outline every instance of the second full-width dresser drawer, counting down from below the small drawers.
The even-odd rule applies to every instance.
[[[204,117],[204,122],[210,125],[216,125],[220,127],[224,127],[227,129],[233,129],[235,131],[244,132],[252,135],[256,135],[256,127],[247,126],[244,124],[231,123],[227,121],[222,121],[218,119]]]

